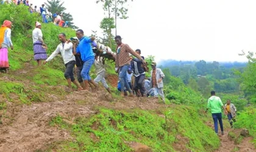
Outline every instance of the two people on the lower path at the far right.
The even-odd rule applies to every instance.
[[[233,122],[235,122],[235,116],[236,116],[236,107],[231,103],[230,100],[227,100],[226,105],[223,105],[221,98],[216,96],[215,91],[211,92],[211,97],[208,99],[207,103],[207,109],[205,112],[208,111],[208,109],[211,109],[213,122],[214,122],[214,128],[215,133],[218,134],[218,121],[219,126],[221,127],[221,134],[224,134],[224,128],[222,123],[222,112],[221,108],[224,109],[224,114],[227,115],[227,118],[229,120],[230,126],[233,127]]]

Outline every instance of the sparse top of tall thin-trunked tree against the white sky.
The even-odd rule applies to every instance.
[[[127,12],[128,9],[124,7],[128,0],[97,0],[96,3],[102,2],[102,7],[105,13],[108,14],[108,18],[115,17],[115,28],[116,26],[116,19],[127,19]],[[130,0],[133,1],[133,0]],[[117,34],[117,28],[115,35]]]

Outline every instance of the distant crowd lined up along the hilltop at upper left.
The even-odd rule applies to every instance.
[[[4,2],[9,4],[8,0],[2,0],[1,4],[4,4]],[[28,0],[18,0],[18,1],[13,0],[12,2],[17,5],[26,5],[28,7],[30,13],[40,14],[41,18],[42,18],[42,22],[44,22],[44,23],[52,22],[56,26],[68,27],[69,22],[64,21],[63,13],[56,12],[56,13],[52,14],[51,10],[46,9],[46,6],[44,4],[42,4],[41,7],[38,9],[36,5],[35,5],[35,7],[33,7],[33,4],[29,4]]]

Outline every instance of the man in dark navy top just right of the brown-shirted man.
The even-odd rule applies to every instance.
[[[139,55],[141,54],[140,49],[135,50],[135,52]],[[144,59],[144,57],[141,58]],[[132,66],[133,75],[135,77],[135,82],[133,86],[134,91],[136,92],[138,97],[146,97],[146,91],[144,88],[145,71],[142,67],[143,63],[138,58],[133,58],[132,61],[130,62],[130,65]]]

